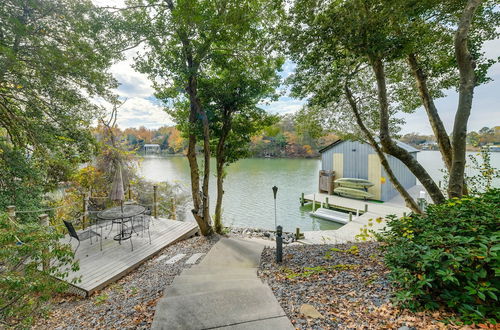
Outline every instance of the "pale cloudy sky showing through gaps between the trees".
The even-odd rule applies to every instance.
[[[500,39],[485,43],[484,51],[489,58],[500,57]],[[126,59],[111,68],[111,72],[120,84],[116,90],[117,94],[127,99],[120,108],[118,125],[121,128],[145,126],[150,129],[173,125],[171,118],[163,111],[161,103],[155,99],[148,77],[132,68],[135,53],[135,50],[127,51]],[[293,73],[294,67],[293,63],[287,61],[281,76],[288,77]],[[500,63],[490,68],[489,76],[493,79],[492,82],[475,89],[469,131],[477,131],[484,126],[500,126]],[[446,94],[446,97],[436,100],[436,106],[446,128],[451,132],[458,97],[455,91],[448,91]],[[275,102],[260,106],[271,113],[287,114],[296,112],[304,104],[304,100],[294,99],[285,94]],[[411,132],[432,134],[423,108],[401,116],[406,121],[401,130],[402,134]]]

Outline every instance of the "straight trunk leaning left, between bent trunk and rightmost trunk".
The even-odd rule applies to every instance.
[[[429,118],[432,131],[434,132],[434,136],[436,137],[439,151],[441,152],[444,164],[449,172],[452,163],[452,148],[450,137],[448,136],[446,128],[444,127],[444,124],[439,117],[436,105],[434,104],[434,99],[429,92],[429,88],[427,87],[427,77],[420,67],[415,54],[408,55],[408,63],[410,64],[413,76],[415,77],[417,88],[420,94],[420,99],[422,100],[424,109],[427,112],[427,117]]]

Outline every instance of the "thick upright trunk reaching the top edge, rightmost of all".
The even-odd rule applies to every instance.
[[[467,122],[469,121],[476,84],[475,62],[469,52],[467,39],[472,18],[481,2],[481,0],[469,0],[467,2],[455,34],[455,57],[460,73],[460,85],[458,89],[458,108],[452,133],[453,162],[448,182],[448,195],[450,197],[461,197],[464,187]]]

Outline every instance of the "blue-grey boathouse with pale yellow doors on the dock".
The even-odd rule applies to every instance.
[[[406,143],[396,141],[398,146],[406,149],[414,158],[417,158],[418,149]],[[374,184],[368,192],[374,198],[388,201],[398,194],[380,163],[375,150],[366,143],[351,140],[337,140],[329,146],[321,149],[321,167],[325,171],[334,171],[335,179],[358,178],[369,180]],[[417,179],[410,170],[397,158],[387,155],[389,165],[406,188],[411,188],[417,183]]]

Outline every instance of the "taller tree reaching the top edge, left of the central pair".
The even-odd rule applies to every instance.
[[[203,235],[212,232],[209,209],[210,127],[200,99],[200,80],[227,59],[239,58],[245,36],[272,25],[281,2],[270,0],[132,0],[131,19],[149,49],[138,68],[155,81],[156,96],[166,104],[187,103],[192,213]],[[243,57],[244,59],[244,57]],[[199,125],[201,124],[201,125]],[[203,180],[196,160],[197,129],[203,136]]]

